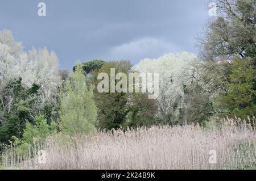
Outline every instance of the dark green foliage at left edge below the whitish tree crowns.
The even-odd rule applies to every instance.
[[[43,114],[48,123],[56,113],[55,104],[40,100],[39,85],[26,88],[22,79],[8,81],[0,96],[0,143],[9,143],[12,136],[22,138],[26,123],[34,124],[34,117]]]

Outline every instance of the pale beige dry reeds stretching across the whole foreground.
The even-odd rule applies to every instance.
[[[221,126],[140,128],[91,136],[52,136],[18,158],[2,155],[5,169],[246,169],[256,165],[254,125],[228,119]],[[18,149],[18,148],[15,148]],[[46,151],[46,164],[37,152]],[[216,150],[217,163],[209,163]]]

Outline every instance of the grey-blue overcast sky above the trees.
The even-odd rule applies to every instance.
[[[38,16],[38,3],[46,16]],[[89,61],[157,58],[197,53],[196,36],[208,16],[207,0],[1,0],[0,30],[13,32],[24,49],[47,47],[71,70]]]

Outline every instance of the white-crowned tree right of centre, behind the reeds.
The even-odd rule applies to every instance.
[[[140,73],[159,73],[159,96],[156,99],[159,117],[165,123],[177,116],[177,110],[183,102],[184,70],[195,61],[195,54],[182,52],[166,54],[157,59],[146,58],[134,66]]]

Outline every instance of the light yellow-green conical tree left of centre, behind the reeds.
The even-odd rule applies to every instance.
[[[93,100],[93,86],[86,84],[81,64],[65,82],[60,92],[61,131],[69,135],[96,131],[97,107]]]

